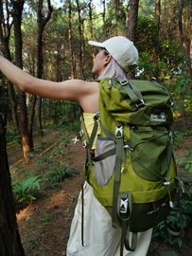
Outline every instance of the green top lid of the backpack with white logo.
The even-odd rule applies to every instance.
[[[122,84],[118,79],[107,78],[99,83],[100,100],[117,122],[142,126],[173,123],[173,100],[164,86],[158,82],[126,81]],[[143,103],[140,105],[131,100],[132,85],[141,93]]]

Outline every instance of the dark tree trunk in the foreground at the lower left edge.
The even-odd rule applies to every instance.
[[[5,127],[0,115],[0,255],[25,256],[19,235],[6,152]]]

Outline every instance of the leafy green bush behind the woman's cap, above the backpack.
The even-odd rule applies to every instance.
[[[136,46],[139,51],[138,76],[140,79],[155,77],[158,81],[169,80],[183,64],[180,43],[175,39],[161,39],[160,28],[154,19],[141,16],[137,23]]]

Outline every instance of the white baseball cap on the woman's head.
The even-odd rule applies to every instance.
[[[139,59],[137,48],[124,36],[114,36],[103,43],[95,41],[89,41],[88,43],[92,46],[106,48],[116,63],[126,72],[137,66]]]

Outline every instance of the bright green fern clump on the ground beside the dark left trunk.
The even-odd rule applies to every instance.
[[[40,192],[40,176],[28,176],[19,182],[12,182],[12,192],[16,202],[24,203],[33,201],[34,194]]]

